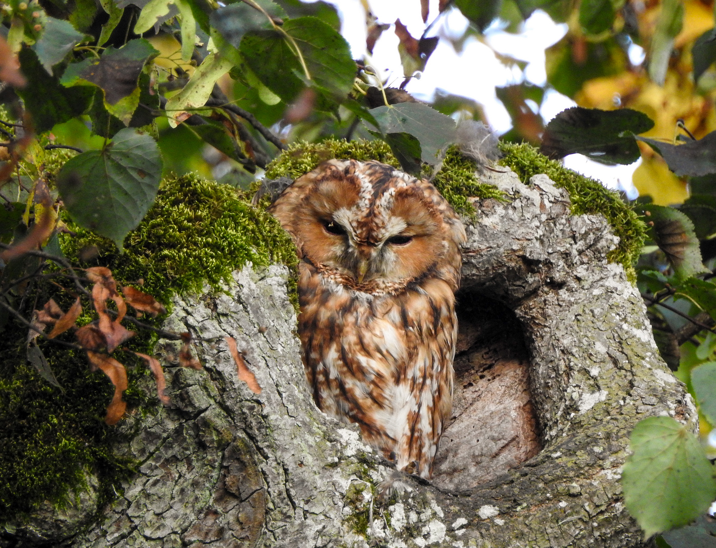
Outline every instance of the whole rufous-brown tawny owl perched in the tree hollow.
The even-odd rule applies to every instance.
[[[329,160],[271,206],[299,249],[299,335],[318,407],[430,477],[450,417],[465,228],[432,184]]]

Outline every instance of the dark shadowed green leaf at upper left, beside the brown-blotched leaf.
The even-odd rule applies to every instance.
[[[62,87],[57,77],[47,74],[35,52],[27,46],[20,50],[19,59],[27,86],[16,88],[16,93],[21,96],[25,109],[32,115],[37,133],[52,129],[54,124],[62,124],[87,111],[94,94],[90,86],[72,89]]]

